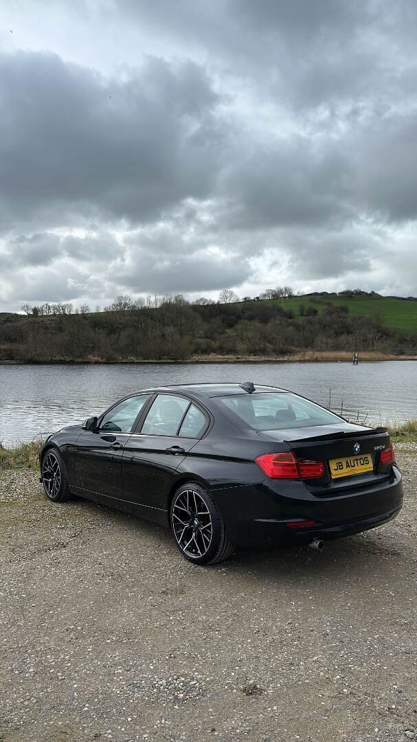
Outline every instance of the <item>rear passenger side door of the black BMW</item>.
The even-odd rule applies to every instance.
[[[157,394],[140,431],[125,445],[123,497],[146,508],[165,508],[177,468],[200,439],[195,433],[208,424],[208,416],[183,395]]]

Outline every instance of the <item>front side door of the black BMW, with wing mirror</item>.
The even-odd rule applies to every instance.
[[[76,487],[122,497],[122,455],[145,404],[151,395],[134,395],[118,402],[99,419],[95,430],[83,430],[74,446]]]

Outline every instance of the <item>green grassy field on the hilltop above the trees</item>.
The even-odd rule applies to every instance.
[[[300,306],[312,306],[323,312],[326,309],[324,302],[330,301],[337,306],[347,306],[349,314],[364,315],[375,318],[381,324],[404,332],[417,332],[417,301],[402,301],[384,296],[338,296],[329,294],[324,297],[295,296],[291,299],[266,299],[266,303],[279,304],[283,309],[292,309],[295,315],[300,314]]]

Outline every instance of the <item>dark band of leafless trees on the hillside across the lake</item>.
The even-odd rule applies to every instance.
[[[307,299],[298,315],[285,301],[190,303],[182,295],[118,297],[111,311],[100,313],[76,314],[62,306],[37,315],[0,315],[0,360],[184,360],[303,349],[417,353],[416,333],[389,329],[378,317],[349,315],[347,306],[324,297]]]

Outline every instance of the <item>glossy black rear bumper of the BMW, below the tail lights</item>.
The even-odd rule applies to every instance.
[[[328,498],[314,496],[303,482],[263,482],[217,494],[227,531],[238,546],[273,547],[312,539],[338,539],[392,520],[401,510],[401,472],[395,466],[378,482]],[[298,526],[303,521],[312,525]]]

